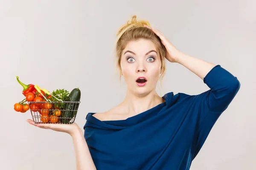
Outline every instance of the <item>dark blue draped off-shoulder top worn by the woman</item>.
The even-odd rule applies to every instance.
[[[101,121],[88,113],[84,138],[97,170],[189,170],[218,117],[240,88],[216,65],[198,95],[169,92],[166,101],[125,120]]]

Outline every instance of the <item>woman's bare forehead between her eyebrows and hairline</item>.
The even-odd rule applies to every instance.
[[[127,50],[133,51],[138,55],[145,55],[145,53],[150,50],[156,51],[156,47],[151,40],[139,39],[128,42],[122,54]]]

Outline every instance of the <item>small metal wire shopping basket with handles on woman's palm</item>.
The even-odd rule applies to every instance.
[[[42,90],[53,96],[49,91],[39,88],[38,85],[35,85],[35,88],[39,93]],[[75,122],[80,102],[62,101],[56,97],[60,102],[52,102],[45,96],[44,98],[45,102],[29,102],[32,119],[35,123],[73,124]]]

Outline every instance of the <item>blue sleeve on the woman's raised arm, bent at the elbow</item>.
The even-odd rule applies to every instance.
[[[193,96],[198,108],[198,131],[195,139],[193,159],[204,144],[210,130],[234,99],[240,88],[240,82],[230,72],[216,65],[204,77],[204,83],[210,90]]]

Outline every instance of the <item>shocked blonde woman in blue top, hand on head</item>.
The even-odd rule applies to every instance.
[[[159,96],[155,88],[165,74],[165,59],[198,75],[210,90]],[[76,123],[28,122],[70,134],[77,169],[188,170],[239,91],[239,80],[221,65],[178,51],[148,21],[137,21],[136,15],[119,28],[116,64],[127,84],[126,97],[105,113],[88,113],[84,134]]]

